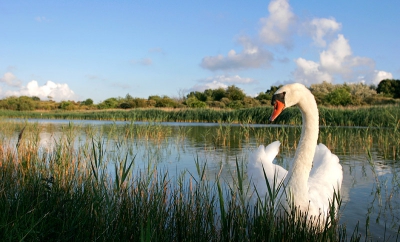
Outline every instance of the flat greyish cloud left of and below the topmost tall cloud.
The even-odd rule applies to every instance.
[[[206,56],[201,62],[201,66],[209,70],[239,70],[247,68],[259,68],[269,66],[274,59],[273,55],[258,46],[245,36],[239,38],[239,43],[243,46],[240,53],[235,50],[230,50],[227,56]]]

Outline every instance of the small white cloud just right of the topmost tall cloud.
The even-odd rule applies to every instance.
[[[332,35],[342,28],[342,24],[336,22],[334,18],[314,18],[306,24],[308,32],[310,32],[314,44],[320,47],[326,46],[325,37]]]

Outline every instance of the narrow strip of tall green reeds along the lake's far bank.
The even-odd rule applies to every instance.
[[[266,124],[272,107],[257,107],[239,110],[215,109],[132,109],[108,111],[8,111],[0,115],[7,118],[44,118],[79,120],[123,120],[162,122],[223,122]],[[381,126],[399,125],[400,106],[374,106],[354,108],[320,107],[320,124],[327,126]],[[274,122],[276,124],[300,124],[301,114],[297,108],[285,110]]]

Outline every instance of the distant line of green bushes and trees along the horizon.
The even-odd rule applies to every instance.
[[[280,86],[271,86],[256,97],[247,96],[243,90],[232,85],[227,88],[207,89],[203,92],[190,92],[186,96],[172,98],[168,96],[149,96],[145,98],[111,97],[98,104],[91,98],[84,101],[55,102],[52,97],[40,100],[39,97],[7,97],[0,100],[0,109],[15,111],[33,110],[97,110],[97,109],[133,109],[133,108],[218,108],[241,109],[270,105],[271,97]],[[400,80],[385,79],[377,87],[373,85],[331,84],[323,82],[310,86],[319,105],[363,106],[398,103],[400,99]],[[396,100],[397,99],[397,100]]]

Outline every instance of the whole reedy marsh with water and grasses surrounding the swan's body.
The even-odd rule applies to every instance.
[[[274,140],[276,162],[289,167],[300,127],[2,120],[0,237],[396,241],[399,128],[321,128],[345,175],[339,219],[321,232],[306,213],[276,217],[254,202],[245,172],[249,151]]]

